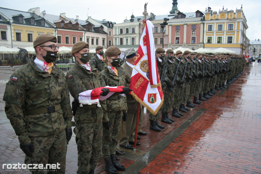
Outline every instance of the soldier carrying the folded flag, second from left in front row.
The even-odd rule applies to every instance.
[[[76,100],[73,102],[76,108],[74,114],[76,127],[73,131],[78,150],[77,173],[92,174],[102,152],[102,125],[105,129],[109,129],[109,119],[107,113],[103,113],[103,108],[106,108],[105,101],[101,102],[102,107],[97,107],[97,104],[80,107],[78,97],[81,92],[105,86],[105,82],[102,74],[88,64],[90,53],[87,42],[76,42],[72,54],[76,62],[67,72],[66,81],[71,95]],[[106,94],[109,92],[108,89],[102,90]]]

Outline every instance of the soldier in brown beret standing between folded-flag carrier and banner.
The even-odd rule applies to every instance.
[[[115,46],[109,47],[105,51],[105,65],[101,72],[108,86],[125,86],[126,73],[119,66],[121,50]],[[129,94],[132,91],[127,87],[123,88],[123,94]],[[116,157],[117,136],[120,131],[121,121],[127,120],[127,103],[126,97],[121,95],[111,96],[106,99],[108,118],[110,119],[110,129],[103,130],[102,137],[102,157],[105,161],[105,171],[109,173],[118,173],[124,171],[125,167],[120,165]],[[123,118],[122,118],[123,116]],[[138,144],[137,144],[138,145]],[[117,171],[118,170],[118,171]]]

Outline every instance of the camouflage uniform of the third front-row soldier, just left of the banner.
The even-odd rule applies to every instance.
[[[107,64],[104,65],[101,74],[103,75],[105,84],[112,87],[125,86],[126,73],[120,66],[117,66],[116,69],[118,71],[118,76],[107,67]],[[117,136],[120,131],[123,112],[127,112],[127,103],[126,97],[122,97],[121,95],[109,97],[105,101],[108,118],[110,119],[110,129],[103,130],[102,157],[109,158],[110,155],[116,153],[116,146],[118,143]]]

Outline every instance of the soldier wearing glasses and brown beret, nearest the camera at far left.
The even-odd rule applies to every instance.
[[[65,173],[67,143],[72,136],[72,109],[57,58],[57,38],[40,34],[33,42],[36,56],[17,69],[8,81],[3,100],[25,164],[57,164]],[[33,173],[43,173],[36,171]]]

